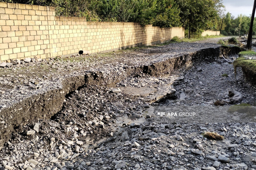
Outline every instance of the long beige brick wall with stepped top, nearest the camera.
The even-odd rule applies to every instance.
[[[0,3],[0,61],[90,53],[184,37],[183,27],[160,28],[132,22],[86,22],[57,17],[54,7]]]

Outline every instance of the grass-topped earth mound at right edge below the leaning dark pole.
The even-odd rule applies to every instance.
[[[244,52],[244,51],[242,51]],[[240,52],[241,53],[241,52]],[[239,55],[240,55],[239,53]],[[254,54],[255,52],[250,52],[250,54]],[[244,55],[244,53],[242,53],[241,55]],[[238,57],[234,63],[234,71],[236,74],[236,68],[237,67],[242,67],[245,71],[252,71],[253,73],[256,74],[256,60],[249,60],[249,59],[245,59],[244,57]]]

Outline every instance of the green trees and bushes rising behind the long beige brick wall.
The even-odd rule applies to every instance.
[[[190,27],[191,37],[203,30],[220,30],[221,0],[0,0],[54,6],[57,16],[85,17],[87,21],[139,22],[160,27]],[[193,17],[191,17],[193,16]]]

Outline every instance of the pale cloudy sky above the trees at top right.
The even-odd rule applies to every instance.
[[[223,5],[226,7],[225,14],[230,12],[235,17],[240,14],[252,15],[253,2],[254,0],[222,0]]]

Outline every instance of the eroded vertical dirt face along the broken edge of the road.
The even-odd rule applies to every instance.
[[[185,55],[156,61],[150,65],[124,67],[122,74],[106,76],[102,71],[87,71],[84,75],[68,76],[62,81],[62,87],[36,94],[23,99],[11,107],[1,110],[4,123],[0,125],[0,146],[3,146],[15,133],[16,129],[36,119],[50,119],[63,106],[66,96],[84,85],[113,85],[127,77],[141,74],[161,76],[173,70],[189,67],[196,61],[213,61],[220,55],[231,55],[240,52],[238,47],[216,47],[197,50]]]

